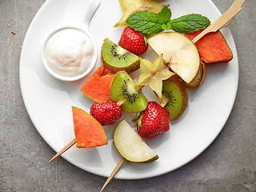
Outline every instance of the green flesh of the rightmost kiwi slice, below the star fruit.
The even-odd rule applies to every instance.
[[[163,81],[162,82],[162,98],[163,100],[167,100],[166,106],[164,108],[169,111],[170,120],[174,120],[182,111],[183,98],[182,93],[178,89],[178,86],[174,84],[174,82]],[[182,111],[183,112],[183,111]]]

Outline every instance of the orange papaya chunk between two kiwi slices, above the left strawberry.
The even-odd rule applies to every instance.
[[[100,66],[94,74],[88,78],[81,91],[95,102],[106,102],[110,99],[110,86],[114,74],[106,72],[104,66]]]

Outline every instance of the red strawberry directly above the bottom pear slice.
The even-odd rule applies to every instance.
[[[157,102],[148,102],[146,110],[138,117],[138,134],[142,138],[154,138],[169,129],[168,110]]]

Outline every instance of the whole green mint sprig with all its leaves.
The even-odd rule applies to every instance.
[[[136,11],[134,14],[130,14],[126,22],[131,28],[144,34],[158,34],[163,30],[190,34],[210,25],[210,20],[201,14],[186,14],[174,19],[170,19],[170,17],[170,9],[164,6],[160,14],[146,10]]]

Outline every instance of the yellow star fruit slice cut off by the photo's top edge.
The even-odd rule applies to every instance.
[[[162,10],[162,5],[158,2],[151,0],[119,0],[123,14],[116,26],[127,26],[126,19],[130,14],[133,14],[137,10],[148,10],[158,14]]]

